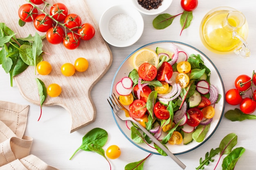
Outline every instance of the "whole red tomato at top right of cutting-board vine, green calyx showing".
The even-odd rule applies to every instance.
[[[63,3],[53,4],[50,9],[50,15],[57,21],[61,22],[65,20],[68,14],[67,6]]]

